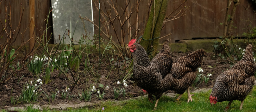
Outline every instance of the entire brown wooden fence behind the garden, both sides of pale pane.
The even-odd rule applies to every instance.
[[[28,40],[29,32],[26,31],[28,28],[30,19],[29,19],[29,0],[0,0],[2,3],[0,4],[0,19],[2,23],[5,20],[5,6],[7,7],[7,16],[8,14],[11,15],[12,18],[12,27],[16,28],[19,24],[20,20],[20,13],[23,12],[23,18],[21,21],[21,30],[24,40]],[[6,4],[5,4],[6,1]],[[98,1],[98,0],[97,0]],[[102,0],[101,0],[102,1]],[[103,12],[106,12],[110,9],[110,6],[106,6],[107,10],[104,9],[105,4],[107,1],[110,0],[103,0],[100,7],[102,8]],[[112,0],[116,1],[116,0]],[[117,0],[117,6],[124,6],[123,0]],[[145,24],[147,23],[148,19],[148,10],[150,6],[151,0],[141,0],[138,12],[138,27],[140,28],[140,32],[138,36],[143,35],[143,31],[145,28]],[[176,7],[178,7],[183,0],[169,0],[168,8],[166,14],[169,14],[173,11]],[[129,6],[133,6],[132,9],[136,8],[137,0],[131,0]],[[223,28],[224,25],[221,25],[224,22],[226,7],[227,7],[227,0],[187,0],[185,4],[181,7],[189,7],[188,10],[184,13],[185,16],[182,16],[179,19],[166,22],[164,29],[161,31],[161,36],[165,36],[169,33],[172,33],[171,36],[166,38],[171,38],[172,43],[175,41],[182,39],[194,39],[194,38],[209,38],[209,37],[219,37],[223,36]],[[252,25],[253,27],[256,24],[256,15],[255,15],[255,7],[256,5],[252,3],[252,0],[242,0],[241,3],[238,5],[236,9],[236,15],[234,18],[234,28],[232,31],[233,36],[242,36],[243,32],[247,32],[247,26]],[[51,0],[36,0],[35,2],[35,33],[36,35],[42,34],[44,28],[46,27],[46,19],[49,12],[49,8],[51,7]],[[99,25],[99,12],[97,11],[96,7],[98,4],[93,4],[93,16],[94,22],[96,25]],[[232,5],[231,5],[232,7]],[[21,11],[20,11],[21,8]],[[124,8],[124,7],[122,7]],[[120,9],[122,9],[120,8]],[[11,12],[10,12],[11,11]],[[231,11],[231,10],[230,10]],[[113,13],[114,14],[114,13]],[[77,16],[78,17],[78,16]],[[114,15],[112,17],[115,17]],[[50,16],[49,25],[52,25],[52,16]],[[136,24],[136,12],[132,14],[131,18],[131,28],[132,34],[135,32]],[[116,25],[116,29],[120,29],[118,26],[118,21],[113,23]],[[103,23],[101,23],[103,25]],[[128,25],[127,25],[128,26]],[[98,28],[94,27],[94,33],[98,33]],[[103,29],[104,30],[104,29]],[[3,31],[2,25],[0,25],[0,32]],[[26,31],[26,32],[25,32]],[[25,32],[25,33],[24,33]],[[52,28],[49,29],[48,32],[53,32]],[[118,31],[117,31],[118,32]],[[113,36],[113,39],[117,41],[115,38],[116,35],[121,35],[120,32],[117,34],[114,31],[110,31],[109,35]],[[0,37],[3,37],[1,42],[3,42],[5,35],[4,33],[0,34]],[[21,33],[16,40],[15,45],[19,45],[21,40]],[[120,37],[120,36],[119,36]],[[132,37],[134,38],[134,37]],[[160,43],[165,39],[161,39]],[[128,40],[126,41],[128,42]],[[53,43],[53,41],[51,42]]]

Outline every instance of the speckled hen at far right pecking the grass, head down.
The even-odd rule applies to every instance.
[[[209,98],[210,103],[216,104],[217,102],[229,101],[226,107],[226,110],[228,110],[233,100],[240,100],[240,109],[242,109],[244,99],[252,90],[255,81],[255,67],[252,45],[249,44],[242,60],[216,78]]]

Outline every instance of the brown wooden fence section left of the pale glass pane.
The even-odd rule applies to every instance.
[[[1,2],[2,1],[2,2]],[[4,24],[5,19],[11,21],[12,28],[16,29],[20,22],[20,15],[22,15],[22,19],[20,22],[20,33],[17,34],[18,38],[13,43],[14,45],[20,45],[21,42],[27,41],[29,39],[29,0],[0,0],[0,20]],[[7,8],[6,8],[7,6]],[[51,0],[35,0],[35,31],[34,34],[36,36],[40,36],[44,29],[46,28],[46,20],[48,13],[51,7]],[[6,10],[6,12],[5,12]],[[11,11],[11,12],[10,12]],[[7,13],[7,14],[6,14]],[[7,15],[7,17],[5,16]],[[9,20],[8,15],[11,16],[11,20]],[[50,15],[49,25],[52,25],[52,15]],[[7,27],[8,28],[8,27]],[[3,26],[0,24],[0,30],[3,31]],[[6,39],[5,33],[0,31],[0,39],[1,42],[4,42]],[[48,32],[53,32],[52,28],[48,29]],[[50,34],[49,33],[49,34]],[[23,36],[22,36],[23,35]],[[49,36],[49,35],[48,35]],[[23,38],[23,40],[22,40]],[[50,42],[50,43],[53,43]]]

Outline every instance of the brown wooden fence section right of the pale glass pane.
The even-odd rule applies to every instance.
[[[109,11],[110,6],[107,4],[106,1],[116,1],[116,0],[105,0],[106,3],[106,9]],[[122,0],[125,1],[125,0]],[[123,5],[122,8],[124,9],[124,3],[120,0],[117,0],[116,4],[117,6]],[[129,0],[128,0],[129,1]],[[128,7],[133,5],[133,8],[131,10],[134,10],[134,7],[136,5],[137,0],[131,0]],[[139,0],[138,0],[139,1]],[[177,8],[184,0],[169,0],[166,14],[171,13],[175,8]],[[143,31],[145,28],[145,24],[147,23],[148,18],[148,10],[149,10],[149,4],[151,0],[141,0],[140,6],[139,6],[139,29],[140,34],[139,36],[143,35]],[[100,7],[103,12],[106,13],[105,10],[105,3],[100,4]],[[171,38],[172,43],[177,42],[178,40],[182,39],[195,39],[195,38],[211,38],[211,37],[220,37],[223,36],[223,29],[224,29],[224,19],[226,14],[226,8],[227,8],[227,0],[187,0],[185,4],[183,4],[181,7],[189,7],[188,10],[184,13],[185,16],[182,16],[179,19],[166,22],[165,28],[162,29],[160,36],[165,36],[168,34],[172,34],[171,36],[168,36],[166,38]],[[231,14],[231,8],[233,6],[230,6],[230,14]],[[98,7],[98,5],[94,5],[93,10],[93,16],[94,16],[94,22],[98,25],[99,21],[99,12],[96,10],[95,7]],[[233,23],[233,31],[231,35],[233,36],[242,36],[243,32],[247,32],[247,26],[252,25],[252,27],[256,26],[256,15],[255,10],[256,4],[252,3],[252,0],[241,0],[241,3],[236,8],[236,14],[234,18]],[[121,10],[121,9],[120,9]],[[120,11],[119,10],[119,11]],[[112,10],[113,11],[113,10]],[[112,12],[112,17],[115,18],[115,13]],[[102,17],[101,17],[102,18]],[[112,19],[113,19],[112,18]],[[132,24],[132,34],[135,32],[136,29],[136,12],[132,14],[131,16],[131,24]],[[116,29],[120,29],[120,26],[118,26],[119,21],[115,21]],[[101,23],[101,26],[103,23]],[[127,25],[128,26],[128,25]],[[98,33],[98,28],[95,29],[95,34]],[[104,30],[104,29],[103,29]],[[120,31],[120,30],[119,30]],[[117,31],[118,32],[118,31]],[[114,37],[116,34],[114,31],[110,31],[109,35],[113,35]],[[120,37],[120,32],[117,33]],[[134,37],[133,37],[134,38]],[[166,38],[163,38],[160,40],[160,43],[162,43]],[[117,38],[113,38],[115,41],[117,41]],[[127,42],[127,41],[126,41]]]

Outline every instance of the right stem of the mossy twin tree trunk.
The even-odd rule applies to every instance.
[[[148,49],[150,49],[149,51],[152,52],[152,54],[151,54],[152,57],[156,56],[156,54],[158,52],[157,47],[158,47],[158,43],[159,43],[159,38],[157,38],[157,37],[159,37],[160,33],[161,33],[164,18],[166,15],[167,4],[168,4],[168,0],[163,0],[160,11],[159,11],[158,18],[156,20],[156,26],[155,26],[155,29],[153,32],[153,37],[152,37],[152,38],[156,38],[156,39],[152,40],[152,43],[148,48]]]

